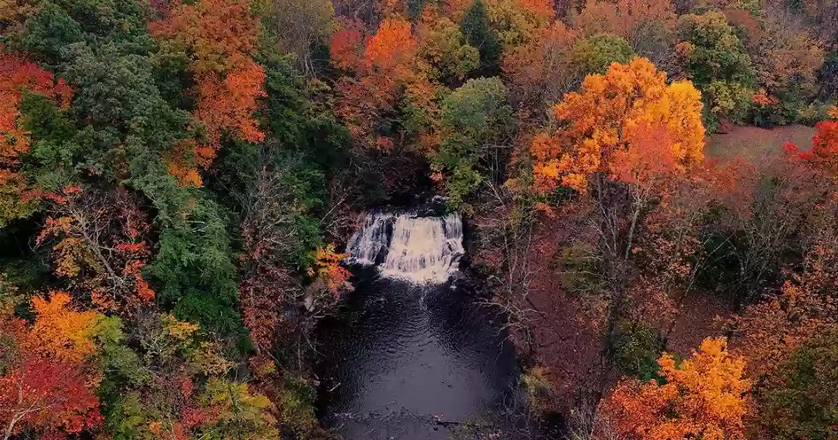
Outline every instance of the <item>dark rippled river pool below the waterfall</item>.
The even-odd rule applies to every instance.
[[[417,286],[369,267],[358,280],[318,329],[326,427],[345,440],[533,438],[502,314],[457,282]]]

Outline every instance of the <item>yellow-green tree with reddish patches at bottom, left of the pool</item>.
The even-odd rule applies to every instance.
[[[105,422],[116,436],[278,437],[266,396],[223,378],[235,365],[223,340],[161,313],[140,316],[125,339],[104,355],[111,380],[102,392]]]

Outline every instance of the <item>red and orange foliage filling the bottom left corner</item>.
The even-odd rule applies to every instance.
[[[98,353],[94,337],[105,319],[75,312],[70,296],[51,292],[33,298],[34,324],[0,321],[3,375],[0,376],[0,429],[8,438],[24,429],[44,438],[64,437],[102,421],[96,386],[100,372],[87,360]]]

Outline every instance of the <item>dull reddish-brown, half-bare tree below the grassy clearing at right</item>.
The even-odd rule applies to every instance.
[[[713,226],[720,243],[716,282],[737,301],[752,301],[784,279],[784,255],[799,254],[801,238],[820,207],[828,206],[834,184],[795,153],[739,168],[735,191],[717,199],[724,214]],[[824,205],[826,204],[826,205]]]

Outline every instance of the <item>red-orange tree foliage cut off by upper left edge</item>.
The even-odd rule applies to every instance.
[[[0,225],[26,215],[26,179],[18,172],[20,157],[29,152],[28,133],[20,127],[18,104],[23,93],[37,93],[70,106],[72,90],[64,80],[23,58],[2,52],[0,45]],[[23,196],[23,199],[22,199]]]

